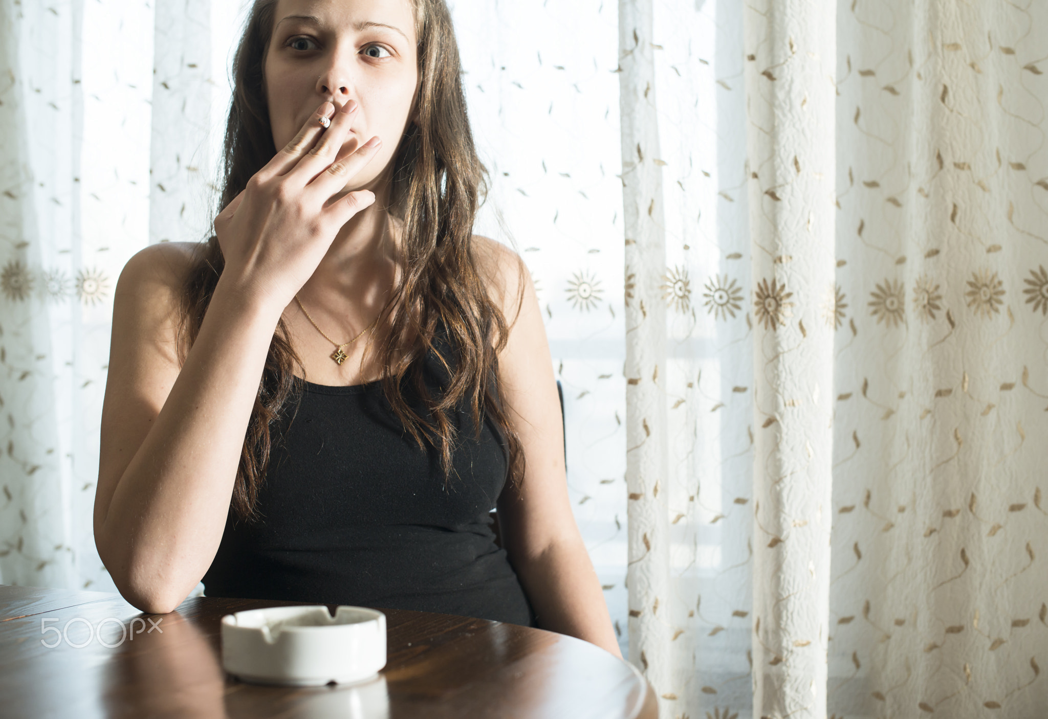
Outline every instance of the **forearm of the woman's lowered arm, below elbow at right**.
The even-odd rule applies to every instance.
[[[604,591],[582,538],[554,542],[514,568],[541,628],[585,639],[621,658]]]

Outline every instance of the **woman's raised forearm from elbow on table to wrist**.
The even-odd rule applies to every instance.
[[[145,611],[174,609],[218,549],[279,316],[219,280],[162,408],[96,523],[106,568]]]

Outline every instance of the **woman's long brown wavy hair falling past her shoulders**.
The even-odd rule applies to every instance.
[[[458,439],[454,414],[460,407],[468,409],[477,436],[485,417],[498,428],[508,457],[508,480],[514,482],[523,476],[524,454],[499,400],[498,379],[498,353],[506,343],[507,323],[488,296],[473,246],[474,221],[487,188],[486,171],[470,130],[451,14],[444,0],[411,2],[421,82],[416,119],[393,159],[388,211],[402,223],[398,261],[403,271],[379,319],[389,327],[387,339],[375,347],[385,368],[383,391],[419,448],[439,453],[445,484]],[[277,0],[256,0],[233,61],[224,178],[216,216],[277,153],[263,85],[276,5]],[[182,362],[200,331],[224,265],[217,237],[197,246],[181,295]],[[440,328],[446,330],[446,342],[435,341]],[[281,318],[237,470],[232,510],[238,519],[259,518],[256,501],[269,464],[270,425],[296,391],[292,366],[304,370],[288,336]],[[407,346],[406,337],[412,338]],[[430,353],[447,372],[438,396],[431,395],[423,382],[422,363]],[[409,405],[405,389],[421,398],[424,411],[419,413]]]

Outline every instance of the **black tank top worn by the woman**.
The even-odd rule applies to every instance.
[[[424,376],[431,391],[446,378],[432,354]],[[297,382],[301,392],[270,428],[262,519],[237,522],[231,509],[204,594],[538,626],[488,525],[507,468],[490,420],[478,441],[470,414],[457,412],[445,482],[437,451],[406,432],[380,382]]]

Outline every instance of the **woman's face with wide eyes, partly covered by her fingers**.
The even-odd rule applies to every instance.
[[[408,127],[418,86],[410,1],[279,0],[263,68],[277,148],[324,100],[335,108],[356,102],[346,143],[378,135],[383,144],[345,188],[373,188]]]

